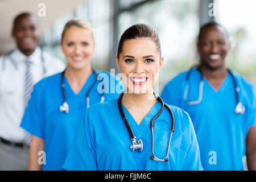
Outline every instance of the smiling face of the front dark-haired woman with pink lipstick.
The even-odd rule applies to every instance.
[[[115,56],[127,93],[151,93],[158,79],[163,58],[149,38],[125,40],[119,57]]]

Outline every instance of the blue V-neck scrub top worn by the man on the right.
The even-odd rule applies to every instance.
[[[203,100],[187,105],[183,100],[187,71],[180,73],[164,87],[161,97],[168,104],[188,112],[199,142],[201,161],[205,170],[243,170],[246,135],[256,125],[256,101],[253,85],[233,72],[240,87],[239,98],[245,113],[235,113],[237,105],[234,82],[230,73],[218,90],[203,78]],[[188,101],[199,97],[200,72],[193,69],[189,77]]]

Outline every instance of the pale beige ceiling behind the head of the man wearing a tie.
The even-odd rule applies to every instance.
[[[42,7],[46,6],[46,16],[39,17],[40,31],[50,27],[57,18],[72,12],[86,0],[0,0],[0,55],[14,47],[14,40],[11,37],[11,28],[14,17],[24,11],[38,15]]]

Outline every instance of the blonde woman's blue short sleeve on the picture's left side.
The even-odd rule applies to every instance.
[[[20,127],[36,137],[44,138],[44,109],[39,90],[40,85],[36,84],[28,101]]]

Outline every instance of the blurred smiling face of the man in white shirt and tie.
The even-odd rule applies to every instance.
[[[15,20],[13,37],[21,52],[30,55],[39,42],[38,22],[32,15],[22,15]]]

